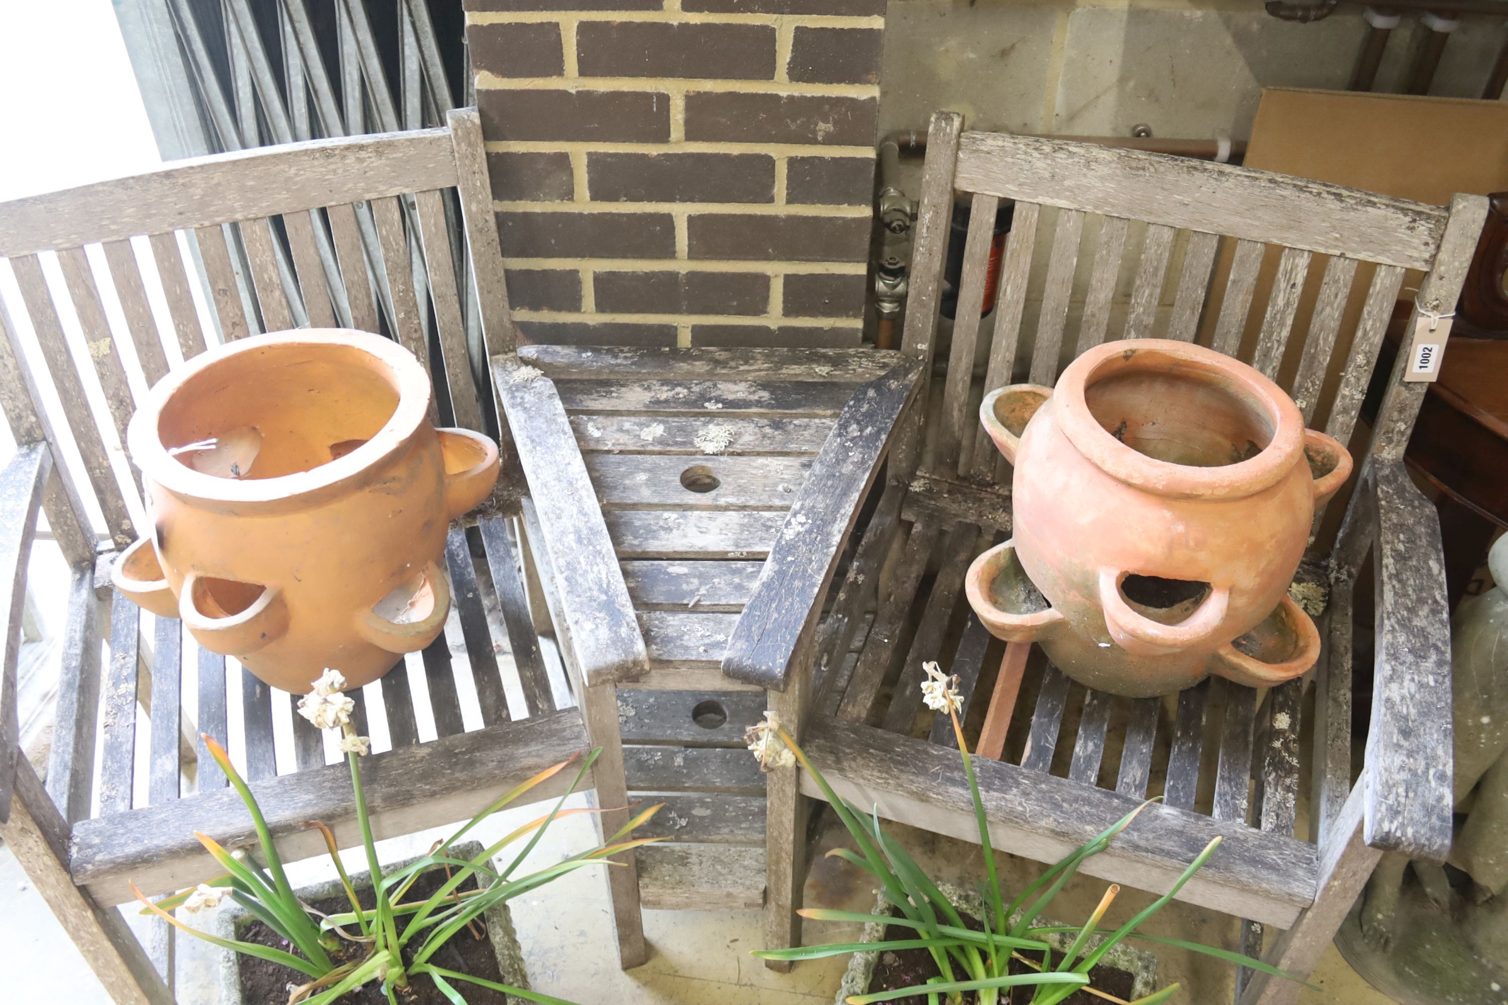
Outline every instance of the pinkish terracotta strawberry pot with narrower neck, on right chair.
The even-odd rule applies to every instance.
[[[1320,636],[1286,591],[1351,458],[1277,384],[1197,345],[1111,342],[1056,389],[986,395],[980,417],[1015,466],[1015,536],[967,580],[997,637],[1131,696],[1313,666]]]

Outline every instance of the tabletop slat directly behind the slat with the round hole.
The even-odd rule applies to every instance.
[[[575,414],[576,443],[588,452],[682,454],[816,454],[834,419],[751,419],[728,416]]]

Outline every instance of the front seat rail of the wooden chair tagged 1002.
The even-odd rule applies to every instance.
[[[979,841],[968,782],[958,752],[873,726],[816,720],[804,743],[838,796],[879,815],[962,841]],[[1015,764],[976,758],[991,841],[1038,862],[1056,862],[1136,809],[1137,799]],[[802,793],[820,797],[810,780]],[[1313,845],[1209,817],[1148,806],[1081,871],[1139,889],[1166,890],[1215,835],[1224,838],[1188,881],[1181,900],[1246,913],[1274,925],[1294,921],[1313,900]]]

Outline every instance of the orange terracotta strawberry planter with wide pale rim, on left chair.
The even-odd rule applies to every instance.
[[[353,687],[440,633],[452,518],[498,479],[498,448],[434,429],[413,356],[362,331],[300,330],[205,353],[127,431],[152,518],[118,589],[199,645],[303,693]]]

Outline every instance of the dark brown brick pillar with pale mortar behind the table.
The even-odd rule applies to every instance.
[[[885,0],[466,0],[535,342],[857,345]]]

